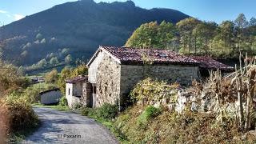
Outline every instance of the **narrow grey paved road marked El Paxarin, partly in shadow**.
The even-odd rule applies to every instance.
[[[49,108],[34,108],[42,126],[22,143],[118,143],[110,131],[90,118]]]

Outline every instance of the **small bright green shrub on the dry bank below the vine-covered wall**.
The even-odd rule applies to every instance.
[[[138,124],[146,124],[148,120],[158,116],[158,114],[161,114],[161,110],[159,108],[154,106],[147,106],[143,113],[138,117]]]

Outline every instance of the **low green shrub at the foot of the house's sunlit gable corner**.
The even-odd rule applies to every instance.
[[[104,103],[97,109],[98,118],[112,119],[118,114],[118,106]]]

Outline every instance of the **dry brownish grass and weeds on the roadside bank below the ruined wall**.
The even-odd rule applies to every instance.
[[[145,113],[143,106],[133,106],[118,116],[114,126],[130,143],[228,143],[242,142],[232,123],[222,126],[214,114],[184,111],[182,114],[163,110],[148,119],[146,125],[138,125]]]

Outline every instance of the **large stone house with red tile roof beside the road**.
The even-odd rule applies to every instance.
[[[107,102],[122,107],[130,90],[146,77],[190,85],[201,71],[231,71],[232,67],[207,57],[186,57],[170,50],[100,46],[87,63],[82,103],[98,107]]]

